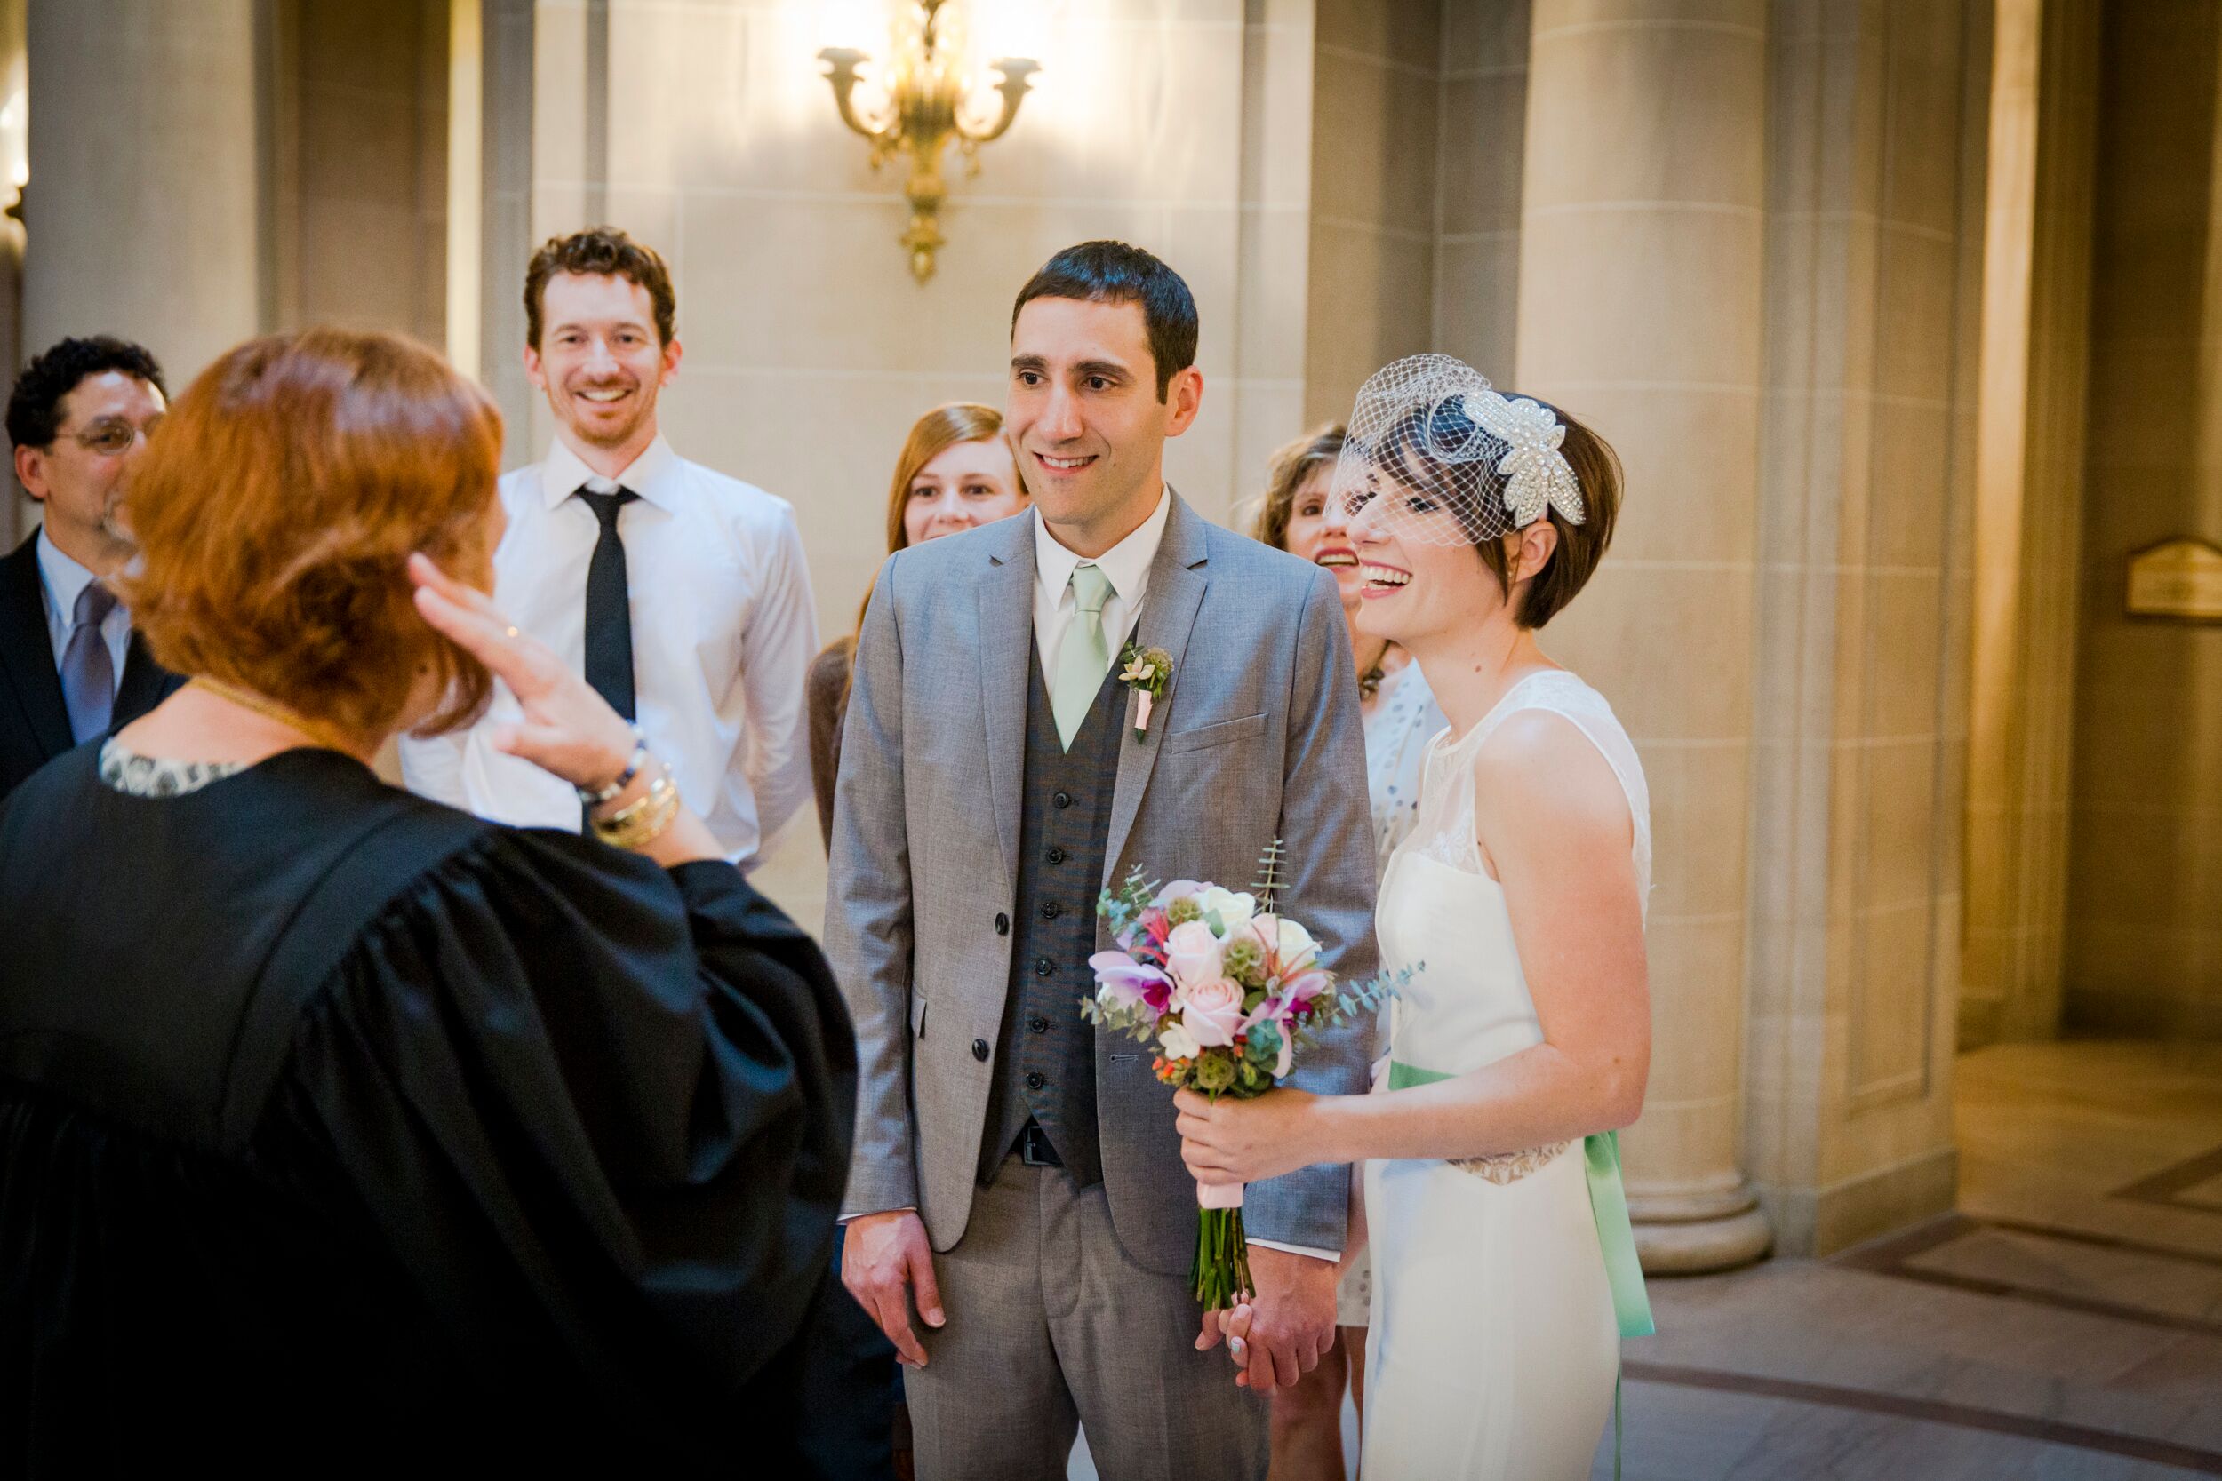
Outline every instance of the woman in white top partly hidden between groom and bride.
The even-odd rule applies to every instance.
[[[1327,497],[1342,455],[1342,424],[1304,433],[1273,453],[1267,491],[1251,535],[1302,555],[1335,573],[1342,619],[1351,624],[1358,657],[1360,713],[1367,726],[1367,793],[1373,802],[1373,873],[1411,833],[1420,804],[1420,762],[1427,742],[1449,722],[1427,688],[1427,677],[1404,648],[1358,631],[1360,575],[1349,513]],[[1295,1388],[1273,1390],[1273,1481],[1342,1481],[1342,1388],[1364,1406],[1367,1306],[1371,1261],[1360,1250],[1335,1288],[1333,1348]]]

